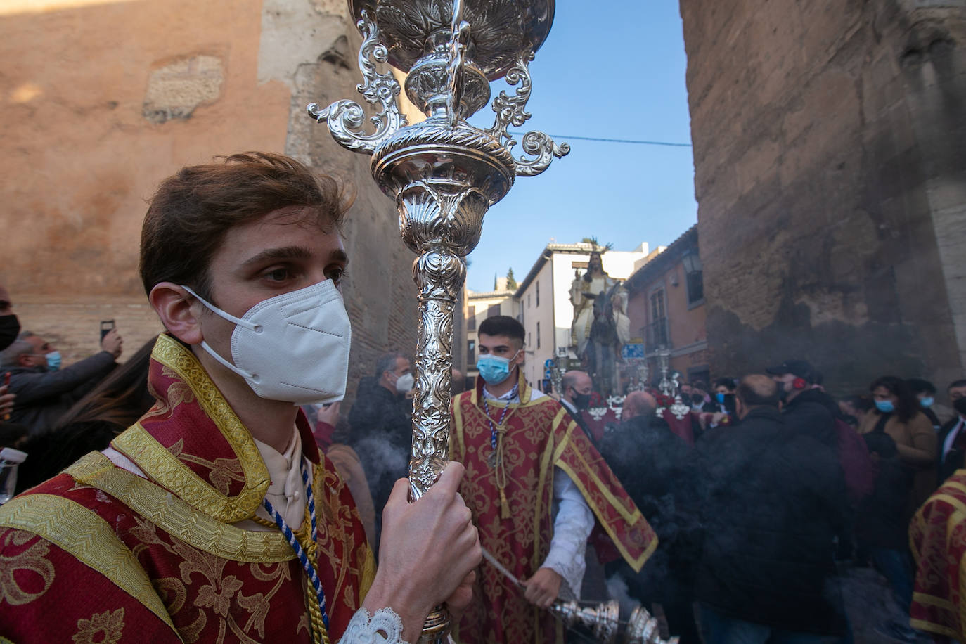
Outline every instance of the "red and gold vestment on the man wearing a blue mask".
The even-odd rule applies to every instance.
[[[494,427],[509,406],[498,429],[506,513],[501,513],[497,468],[491,464],[491,423],[482,404],[482,378],[474,390],[453,401],[450,456],[467,468],[460,491],[473,513],[482,546],[518,578],[528,578],[539,569],[553,537],[554,467],[559,467],[581,491],[620,554],[639,571],[657,546],[657,536],[634,501],[563,406],[548,397],[533,400],[524,378],[519,392],[519,403],[487,401]],[[526,602],[523,590],[493,566],[480,567],[473,592],[473,602],[459,624],[459,642],[562,641],[562,630],[551,613]]]

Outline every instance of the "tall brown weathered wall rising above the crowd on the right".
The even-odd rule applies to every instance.
[[[966,3],[682,0],[712,371],[966,365]]]

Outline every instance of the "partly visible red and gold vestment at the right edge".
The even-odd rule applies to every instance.
[[[957,469],[909,524],[916,559],[910,624],[966,641],[966,469]]]

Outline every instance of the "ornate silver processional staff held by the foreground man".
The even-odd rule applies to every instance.
[[[570,152],[543,132],[522,137],[525,154],[508,128],[530,115],[527,66],[554,21],[554,0],[349,0],[364,40],[357,89],[374,114],[348,99],[308,113],[325,122],[343,147],[372,155],[372,176],[395,199],[403,241],[418,257],[419,342],[412,413],[412,498],[432,486],[449,451],[453,365],[453,310],[466,279],[464,258],[479,242],[483,215],[518,176],[538,175],[554,156]],[[396,105],[399,83],[389,63],[408,72],[406,95],[426,115],[408,125]],[[489,129],[467,118],[490,100],[490,81],[505,77],[514,96],[500,92]],[[372,129],[372,131],[367,131]],[[420,642],[442,642],[443,609],[427,619]]]

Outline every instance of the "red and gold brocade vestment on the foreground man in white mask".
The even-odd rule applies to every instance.
[[[201,364],[158,338],[157,402],[111,443],[146,475],[98,452],[0,508],[0,636],[26,642],[320,641],[320,613],[278,530],[242,529],[269,471]],[[298,529],[322,581],[336,642],[375,573],[349,490],[315,446],[319,531]],[[309,592],[306,593],[308,588]],[[2,638],[0,637],[0,638]]]

